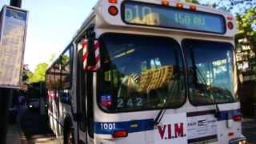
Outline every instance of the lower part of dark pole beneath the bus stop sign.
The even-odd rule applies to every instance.
[[[11,95],[10,89],[0,88],[0,144],[6,143]]]

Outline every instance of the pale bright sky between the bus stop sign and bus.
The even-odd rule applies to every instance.
[[[29,11],[24,64],[34,71],[40,62],[65,49],[97,0],[22,0]],[[10,0],[0,0],[0,8]]]

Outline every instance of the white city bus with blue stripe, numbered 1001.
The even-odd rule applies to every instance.
[[[64,143],[246,143],[235,18],[169,0],[100,0],[46,72]]]

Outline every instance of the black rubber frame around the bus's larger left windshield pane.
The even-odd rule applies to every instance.
[[[182,68],[182,70],[180,70],[180,73],[183,76],[183,80],[181,80],[181,81],[183,81],[183,86],[184,86],[184,100],[183,100],[183,102],[181,102],[180,106],[173,106],[173,107],[166,106],[166,107],[159,107],[159,108],[152,108],[152,109],[145,109],[145,110],[143,110],[143,109],[141,109],[141,110],[119,110],[119,111],[104,110],[102,108],[102,106],[100,106],[100,102],[99,102],[100,101],[100,99],[99,99],[100,97],[99,97],[99,94],[98,94],[99,91],[100,91],[100,87],[101,87],[101,86],[99,86],[99,83],[101,83],[101,81],[102,81],[101,78],[100,78],[100,74],[99,74],[99,73],[102,73],[101,72],[102,71],[102,67],[101,67],[101,69],[97,71],[97,78],[96,78],[97,79],[96,103],[97,103],[98,108],[100,110],[102,110],[103,112],[105,112],[107,114],[119,114],[119,113],[124,113],[124,112],[132,113],[132,112],[138,112],[138,111],[161,110],[161,109],[171,109],[171,110],[174,110],[174,109],[181,108],[182,106],[185,105],[186,99],[187,99],[187,93],[188,93],[187,92],[188,89],[187,89],[187,85],[186,85],[186,83],[187,83],[186,63],[184,62],[184,53],[183,53],[183,50],[182,50],[182,46],[174,38],[170,38],[170,37],[166,37],[166,36],[147,35],[147,34],[125,34],[125,33],[111,33],[111,32],[110,33],[104,33],[104,34],[102,34],[98,38],[98,41],[100,42],[100,54],[102,54],[102,48],[101,48],[102,47],[102,42],[101,42],[101,39],[102,39],[102,36],[105,35],[105,34],[124,34],[124,35],[138,36],[138,37],[142,37],[142,38],[145,38],[145,37],[168,38],[168,39],[172,40],[174,43],[176,43],[177,46],[178,46],[178,54],[180,54],[179,55],[179,57],[181,59],[180,63],[182,63],[182,67],[180,67],[180,68]],[[102,59],[101,59],[101,61],[102,61]]]

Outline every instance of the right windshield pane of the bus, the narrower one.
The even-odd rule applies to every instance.
[[[190,101],[202,106],[234,102],[233,46],[223,42],[182,42],[189,69]]]

